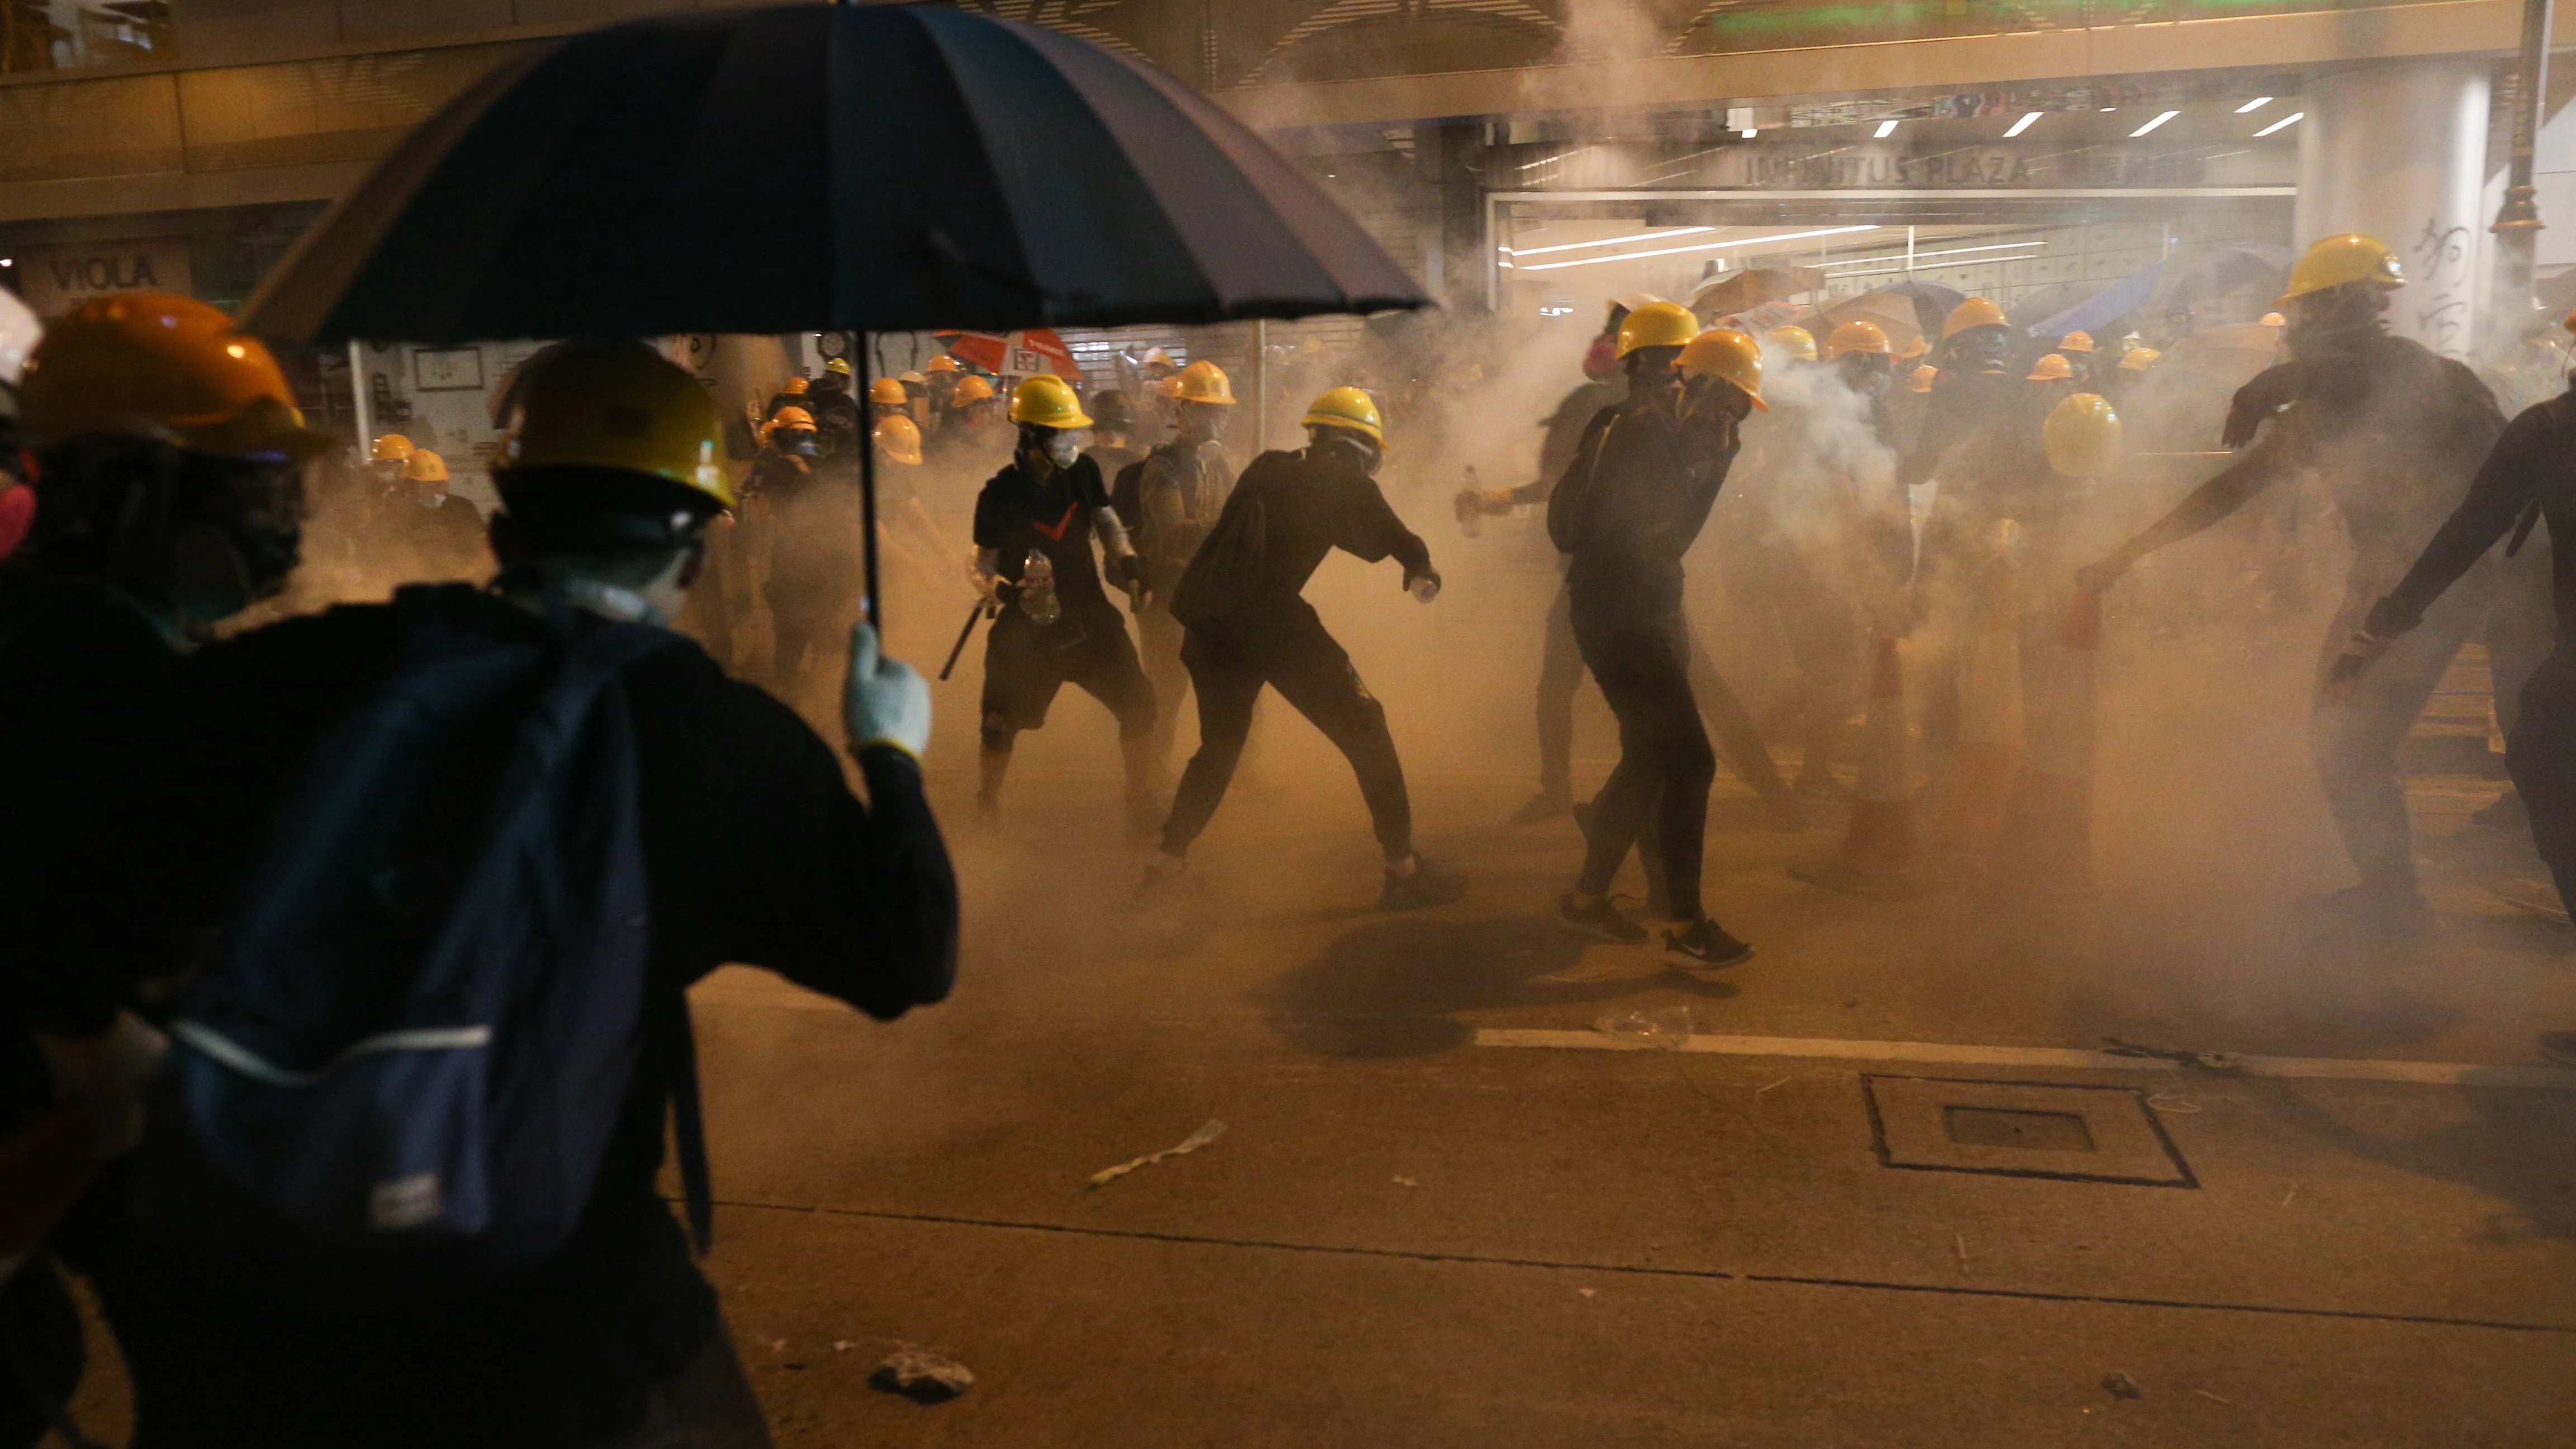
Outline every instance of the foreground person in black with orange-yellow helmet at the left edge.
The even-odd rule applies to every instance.
[[[304,462],[332,438],[304,428],[268,348],[152,291],[54,325],[23,425],[44,485],[0,549],[0,1434],[31,1439],[80,1377],[44,1253],[108,1266],[124,1204],[106,1189],[160,1044],[131,1008],[191,936],[173,833],[147,825],[188,786],[180,650],[283,588]]]

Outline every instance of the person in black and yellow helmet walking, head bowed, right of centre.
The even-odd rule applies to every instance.
[[[1762,351],[1723,327],[1692,335],[1690,312],[1662,307],[1672,304],[1628,317],[1620,353],[1631,400],[1592,420],[1582,456],[1548,500],[1548,536],[1574,557],[1566,570],[1574,639],[1620,724],[1620,761],[1595,802],[1584,869],[1561,915],[1610,941],[1643,941],[1646,928],[1610,902],[1610,882],[1643,843],[1662,859],[1680,926],[1664,933],[1664,959],[1731,967],[1752,946],[1700,908],[1718,758],[1690,694],[1682,554],[1726,482],[1736,425],[1762,402]],[[1677,364],[1682,387],[1662,382]]]

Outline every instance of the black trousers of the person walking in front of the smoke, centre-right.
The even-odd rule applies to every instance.
[[[1690,694],[1690,627],[1680,601],[1574,590],[1574,642],[1618,717],[1618,768],[1592,807],[1577,890],[1610,890],[1631,848],[1654,851],[1674,918],[1700,915],[1708,786],[1718,755]]]

